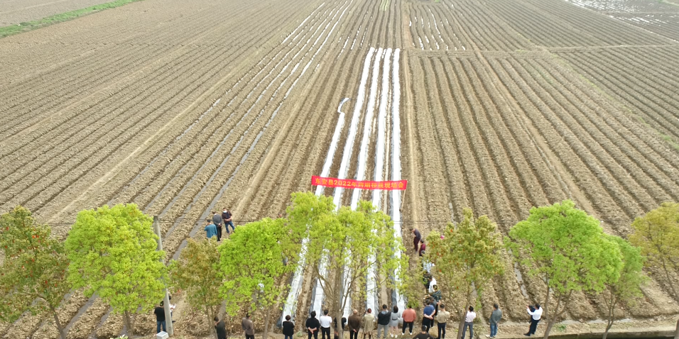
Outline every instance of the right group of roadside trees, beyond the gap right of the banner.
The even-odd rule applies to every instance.
[[[505,267],[499,260],[503,248],[548,287],[542,303],[548,319],[545,339],[575,291],[603,296],[605,339],[616,307],[634,304],[642,296],[640,287],[647,279],[644,264],[665,275],[673,297],[679,300],[673,286],[679,272],[679,204],[665,203],[636,218],[629,241],[604,233],[596,218],[576,209],[570,200],[531,209],[528,218],[511,228],[504,240],[486,216],[474,218],[470,210],[463,216],[457,225],[448,223],[443,233],[428,235],[424,258],[435,264],[446,304],[459,313],[458,338],[467,306],[476,304],[483,287],[503,273]]]

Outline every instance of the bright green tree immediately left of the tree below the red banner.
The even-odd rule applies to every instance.
[[[285,279],[297,267],[300,242],[286,219],[264,218],[240,226],[219,252],[224,277],[220,294],[227,301],[227,313],[235,316],[244,304],[249,312],[264,309],[267,338],[272,308],[285,299]]]

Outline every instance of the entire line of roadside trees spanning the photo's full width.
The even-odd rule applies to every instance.
[[[407,258],[394,256],[396,250],[405,252],[401,240],[389,217],[371,204],[362,202],[356,211],[336,209],[329,197],[296,193],[286,212],[286,218],[240,226],[219,245],[214,239],[190,240],[179,260],[165,265],[153,219],[134,204],[81,211],[65,242],[16,207],[0,218],[0,321],[47,312],[65,339],[58,306],[70,289],[83,289],[122,313],[131,332],[135,315],[148,312],[163,289],[172,287],[185,291],[210,330],[222,304],[232,316],[262,311],[266,338],[285,299],[286,279],[300,265],[315,272],[337,319],[349,296],[362,299],[373,292],[366,291],[369,275],[376,288],[398,288],[416,300],[418,274],[406,276]],[[448,223],[428,235],[424,257],[435,264],[446,304],[460,313],[460,326],[466,307],[477,304],[483,287],[506,269],[499,259],[503,248],[548,286],[542,303],[549,321],[545,338],[574,291],[603,296],[608,331],[616,307],[641,296],[644,265],[662,274],[679,300],[673,284],[679,271],[679,204],[666,203],[637,218],[629,242],[605,234],[599,221],[572,201],[531,209],[504,239],[486,216],[475,218],[470,210],[463,216],[457,225]],[[393,279],[395,272],[403,274]]]

